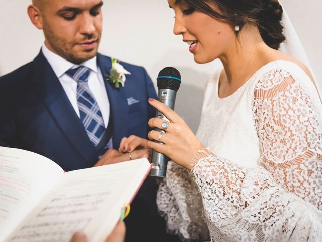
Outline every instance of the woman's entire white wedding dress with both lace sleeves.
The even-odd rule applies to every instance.
[[[305,72],[271,62],[226,98],[216,72],[190,173],[173,162],[157,204],[185,241],[322,241],[322,104]]]

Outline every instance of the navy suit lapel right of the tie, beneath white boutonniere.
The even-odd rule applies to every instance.
[[[101,69],[107,95],[110,102],[110,114],[113,120],[113,148],[118,149],[121,139],[128,135],[128,104],[125,88],[115,88],[114,84],[106,81],[106,75],[112,68],[111,58],[97,55],[97,62]]]

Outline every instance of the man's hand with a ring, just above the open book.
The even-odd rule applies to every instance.
[[[109,149],[102,158],[94,165],[95,166],[101,166],[101,165],[110,165],[115,164],[123,161],[128,160],[135,160],[139,158],[149,158],[149,149],[142,149],[142,150],[135,150],[131,152],[130,154],[123,153],[114,149]]]

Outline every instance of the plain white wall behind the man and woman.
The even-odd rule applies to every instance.
[[[54,1],[54,0],[52,0]],[[176,111],[196,131],[201,113],[203,86],[218,62],[194,63],[188,45],[172,33],[173,11],[167,0],[105,0],[100,52],[144,66],[153,81],[160,69],[176,67],[183,84]],[[0,76],[32,61],[43,43],[43,34],[26,13],[31,0],[0,0]],[[282,0],[322,85],[322,1]]]

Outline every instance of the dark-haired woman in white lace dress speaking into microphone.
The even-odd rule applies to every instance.
[[[157,196],[168,231],[187,241],[322,241],[322,104],[307,66],[278,50],[293,41],[285,42],[281,5],[168,3],[195,61],[219,58],[224,67],[207,83],[197,136],[150,99],[170,120],[149,121],[167,127],[149,133],[164,144],[121,142],[120,150],[147,146],[173,161]]]

